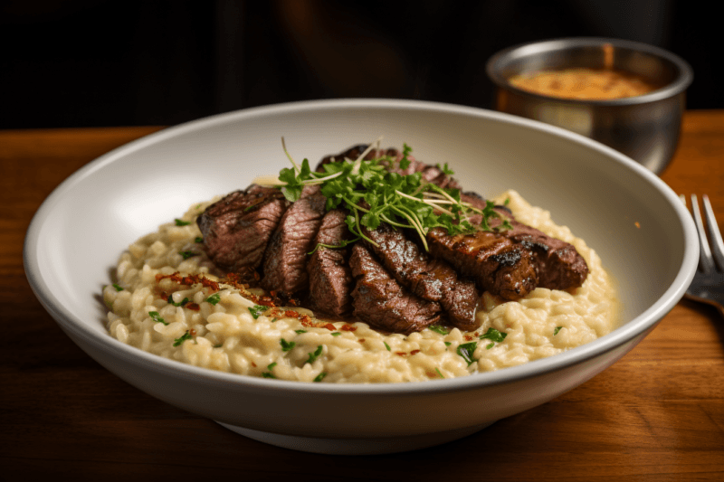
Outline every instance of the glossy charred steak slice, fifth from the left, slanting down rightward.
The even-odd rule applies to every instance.
[[[480,297],[472,281],[458,279],[447,262],[427,255],[389,224],[382,223],[374,231],[364,229],[364,233],[377,243],[367,242],[367,248],[405,288],[420,298],[439,302],[452,326],[463,331],[478,327],[475,312]]]

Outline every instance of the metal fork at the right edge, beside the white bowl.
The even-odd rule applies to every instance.
[[[686,205],[686,197],[683,194],[679,197]],[[701,203],[704,207],[709,236],[701,219],[699,201],[696,194],[691,194],[691,215],[699,232],[699,269],[684,296],[717,307],[724,317],[724,242],[721,241],[721,233],[714,211],[711,209],[709,196],[702,195]]]

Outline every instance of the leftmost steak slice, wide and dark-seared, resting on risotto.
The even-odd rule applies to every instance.
[[[271,233],[288,206],[279,189],[256,184],[227,194],[196,218],[206,254],[221,269],[248,274],[262,264]]]

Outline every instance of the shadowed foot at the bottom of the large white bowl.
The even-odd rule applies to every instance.
[[[261,430],[244,429],[217,421],[219,425],[244,437],[254,439],[283,449],[300,450],[328,455],[379,455],[425,449],[456,439],[462,439],[482,430],[495,421],[458,430],[408,435],[404,437],[377,437],[368,439],[326,439],[321,437],[300,437],[282,435]]]

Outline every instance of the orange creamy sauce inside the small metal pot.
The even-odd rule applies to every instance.
[[[536,94],[586,100],[634,97],[660,87],[627,72],[593,69],[529,72],[508,81],[514,87]]]

